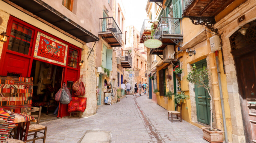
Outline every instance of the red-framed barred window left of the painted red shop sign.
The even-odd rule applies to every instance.
[[[7,49],[29,55],[33,45],[33,35],[34,29],[13,21]]]

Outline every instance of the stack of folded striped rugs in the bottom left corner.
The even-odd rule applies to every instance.
[[[8,143],[10,132],[15,127],[14,113],[7,113],[3,108],[0,108],[0,143]]]

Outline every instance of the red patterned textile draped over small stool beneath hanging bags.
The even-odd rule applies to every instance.
[[[86,99],[85,97],[72,97],[72,100],[68,105],[68,112],[81,111],[84,112],[86,109]]]

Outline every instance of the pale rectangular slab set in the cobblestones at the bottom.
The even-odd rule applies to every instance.
[[[110,132],[88,130],[78,143],[109,143]]]

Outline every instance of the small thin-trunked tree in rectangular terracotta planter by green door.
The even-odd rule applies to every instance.
[[[193,68],[191,69],[191,71],[188,73],[187,75],[187,81],[193,84],[196,84],[198,87],[204,87],[209,96],[211,97],[210,100],[210,128],[209,127],[203,127],[203,137],[204,139],[206,139],[209,142],[223,142],[223,131],[219,130],[217,128],[213,127],[213,107],[212,107],[212,102],[213,102],[213,98],[210,94],[210,86],[205,82],[206,80],[209,81],[209,77],[208,77],[208,72],[210,70],[207,67],[203,67],[203,68],[196,68],[196,65],[194,64]]]

